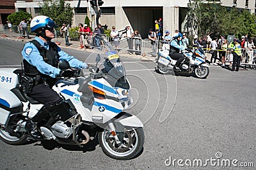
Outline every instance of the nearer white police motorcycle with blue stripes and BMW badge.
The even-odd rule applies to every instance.
[[[132,159],[143,152],[143,124],[136,116],[124,112],[132,103],[131,85],[120,57],[103,40],[103,49],[86,60],[101,63],[96,72],[92,68],[89,70],[93,73],[86,73],[88,69],[76,70],[68,78],[58,78],[52,89],[72,110],[65,112],[67,108],[63,108],[61,112],[51,113],[40,125],[40,132],[44,141],[54,140],[63,145],[83,147],[99,139],[102,151],[109,157]],[[69,66],[65,63],[59,67],[67,69],[66,65]],[[0,73],[0,139],[10,145],[22,145],[31,140],[24,129],[28,118],[43,105],[24,93],[22,69],[0,68]]]

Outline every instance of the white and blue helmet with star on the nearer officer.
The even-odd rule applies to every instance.
[[[55,24],[54,20],[44,15],[36,16],[31,20],[31,24],[30,24],[31,32],[38,33],[36,30],[43,28],[43,33],[44,33],[45,32],[44,28],[47,28],[47,27],[57,28],[58,25]]]

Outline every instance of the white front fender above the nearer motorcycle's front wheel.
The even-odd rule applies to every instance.
[[[120,113],[122,114],[122,113]],[[124,113],[120,118],[118,118],[120,124],[126,127],[143,127],[143,123],[135,115],[130,113]]]

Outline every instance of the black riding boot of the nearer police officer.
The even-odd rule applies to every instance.
[[[45,106],[43,106],[38,113],[36,113],[35,117],[29,118],[28,122],[25,125],[26,131],[28,131],[29,135],[35,139],[43,139],[44,137],[40,133],[38,129],[38,122],[40,122],[45,117],[49,116],[49,111],[46,110]]]

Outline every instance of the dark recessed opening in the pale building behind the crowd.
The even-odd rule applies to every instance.
[[[155,28],[155,20],[163,18],[162,7],[124,7],[123,9],[132,28],[134,31],[138,30],[142,38],[148,37],[148,29]]]

